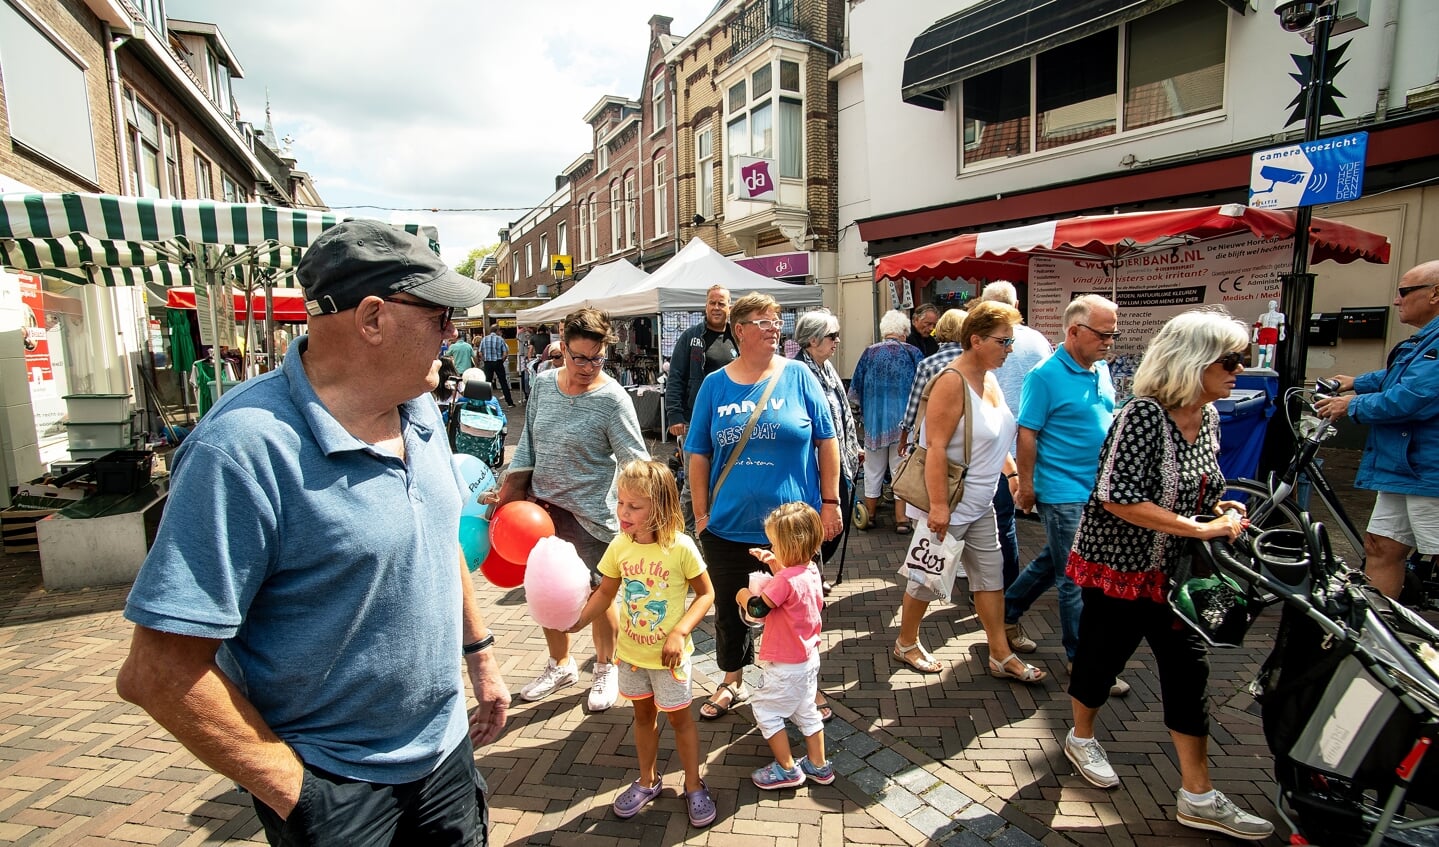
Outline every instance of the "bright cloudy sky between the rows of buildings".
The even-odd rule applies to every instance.
[[[167,0],[220,27],[265,122],[335,210],[439,227],[452,265],[554,191],[603,95],[639,99],[653,14],[688,35],[717,0]],[[495,211],[387,211],[494,209]]]

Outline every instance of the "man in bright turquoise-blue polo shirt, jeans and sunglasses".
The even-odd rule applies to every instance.
[[[1065,309],[1065,341],[1055,355],[1025,377],[1019,403],[1019,493],[1014,506],[1038,508],[1045,549],[1004,591],[1004,630],[1020,653],[1038,644],[1019,618],[1050,585],[1059,588],[1059,631],[1073,661],[1079,646],[1079,587],[1065,575],[1079,515],[1099,470],[1099,449],[1114,420],[1114,383],[1105,354],[1120,336],[1118,306],[1099,295],[1075,298]],[[1117,682],[1114,695],[1128,693]]]

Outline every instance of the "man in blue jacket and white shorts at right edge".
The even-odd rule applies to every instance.
[[[1379,492],[1364,532],[1364,572],[1399,597],[1415,548],[1439,554],[1439,260],[1412,267],[1394,296],[1399,319],[1419,332],[1400,341],[1389,364],[1360,377],[1334,377],[1353,395],[1315,403],[1335,420],[1368,424],[1356,487]]]

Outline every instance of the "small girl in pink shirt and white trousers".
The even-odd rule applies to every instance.
[[[806,779],[829,785],[835,769],[825,758],[825,723],[814,705],[819,687],[820,608],[825,584],[814,555],[825,542],[825,525],[807,503],[784,503],[764,519],[773,552],[751,548],[750,555],[770,567],[774,577],[751,594],[735,594],[740,608],[764,618],[760,640],[760,687],[750,697],[754,722],[774,751],[774,761],[754,772],[760,788],[794,788]],[[758,614],[755,614],[758,613]],[[794,761],[784,735],[789,718],[804,736],[804,758]]]

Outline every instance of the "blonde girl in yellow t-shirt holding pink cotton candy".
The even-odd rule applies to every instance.
[[[659,713],[675,731],[675,749],[685,766],[689,823],[715,820],[715,802],[699,778],[699,732],[689,713],[694,700],[689,633],[714,604],[714,585],[694,539],[685,535],[679,489],[662,462],[636,460],[616,480],[620,534],[600,559],[600,587],[580,613],[571,633],[590,626],[622,597],[616,646],[620,696],[635,706],[635,749],[639,779],[614,800],[614,814],[635,817],[662,788],[658,774]],[[689,591],[695,598],[685,605]]]

